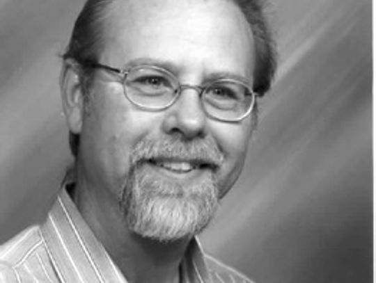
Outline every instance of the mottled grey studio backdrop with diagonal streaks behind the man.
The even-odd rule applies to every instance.
[[[58,66],[83,0],[0,0],[0,242],[43,218],[71,159]],[[201,237],[260,283],[368,283],[370,0],[272,0],[274,90]]]

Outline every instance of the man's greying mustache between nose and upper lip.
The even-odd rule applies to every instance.
[[[130,163],[134,166],[158,160],[188,161],[218,168],[224,162],[224,154],[213,138],[186,140],[181,136],[164,136],[156,140],[143,138],[130,153]]]

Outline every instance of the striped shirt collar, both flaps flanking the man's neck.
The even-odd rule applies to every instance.
[[[62,282],[127,282],[81,217],[66,186],[49,211],[41,236]],[[211,282],[203,250],[196,238],[189,243],[181,267],[182,282]]]

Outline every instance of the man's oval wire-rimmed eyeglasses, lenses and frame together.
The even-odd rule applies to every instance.
[[[147,111],[169,108],[182,90],[191,88],[200,95],[206,115],[224,122],[237,122],[251,113],[256,100],[253,90],[235,79],[217,79],[203,86],[191,86],[180,84],[174,74],[154,65],[138,65],[128,70],[92,61],[83,65],[116,72],[121,76],[127,99]]]

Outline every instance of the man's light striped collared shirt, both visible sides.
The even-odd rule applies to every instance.
[[[204,254],[194,238],[182,260],[184,283],[251,283]],[[81,217],[65,188],[42,225],[0,246],[0,282],[127,282]]]

